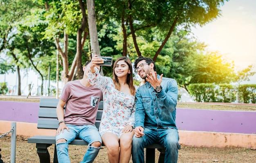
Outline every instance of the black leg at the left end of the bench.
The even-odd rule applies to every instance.
[[[37,148],[37,154],[40,159],[40,163],[50,163],[50,154],[47,150],[49,146],[52,144],[41,144],[41,143],[36,143],[36,148]]]

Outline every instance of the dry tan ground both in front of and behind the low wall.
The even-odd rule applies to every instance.
[[[39,102],[39,98],[3,97],[0,100]],[[217,110],[240,110],[256,111],[256,104],[211,104],[211,103],[178,103],[179,108],[191,109],[217,109]],[[0,133],[2,135],[3,133]],[[11,137],[10,135],[0,138],[0,148],[4,163],[10,163]],[[54,145],[48,148],[51,159],[53,159]],[[86,146],[69,147],[71,163],[79,163],[86,152]],[[159,152],[156,150],[155,162]],[[52,162],[53,160],[51,160]],[[181,144],[178,163],[256,163],[256,150],[247,148],[204,148],[191,147]],[[27,137],[17,136],[16,139],[16,163],[40,163],[36,153],[36,144],[27,143]],[[94,163],[108,163],[106,147],[103,147]],[[132,163],[130,160],[129,163]]]

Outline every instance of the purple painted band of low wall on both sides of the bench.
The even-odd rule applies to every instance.
[[[39,102],[0,101],[0,120],[37,123]],[[177,108],[179,130],[256,134],[256,111]]]

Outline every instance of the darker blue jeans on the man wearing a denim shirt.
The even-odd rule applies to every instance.
[[[145,146],[159,143],[165,148],[164,163],[177,163],[179,134],[174,128],[146,128],[143,137],[132,138],[132,161],[133,163],[144,163]]]

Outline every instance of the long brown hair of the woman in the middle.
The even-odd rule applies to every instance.
[[[128,57],[119,57],[115,63],[114,63],[114,67],[113,67],[113,82],[115,84],[115,88],[117,90],[120,91],[120,84],[118,82],[118,78],[117,78],[117,75],[115,74],[115,67],[117,65],[117,62],[118,61],[121,61],[121,60],[124,60],[125,63],[127,63],[128,67],[129,67],[129,70],[130,70],[130,74],[127,74],[127,80],[126,80],[126,83],[129,85],[129,88],[130,88],[130,93],[134,96],[135,95],[135,87],[133,85],[133,76],[132,76],[132,62],[130,61],[130,59]]]

